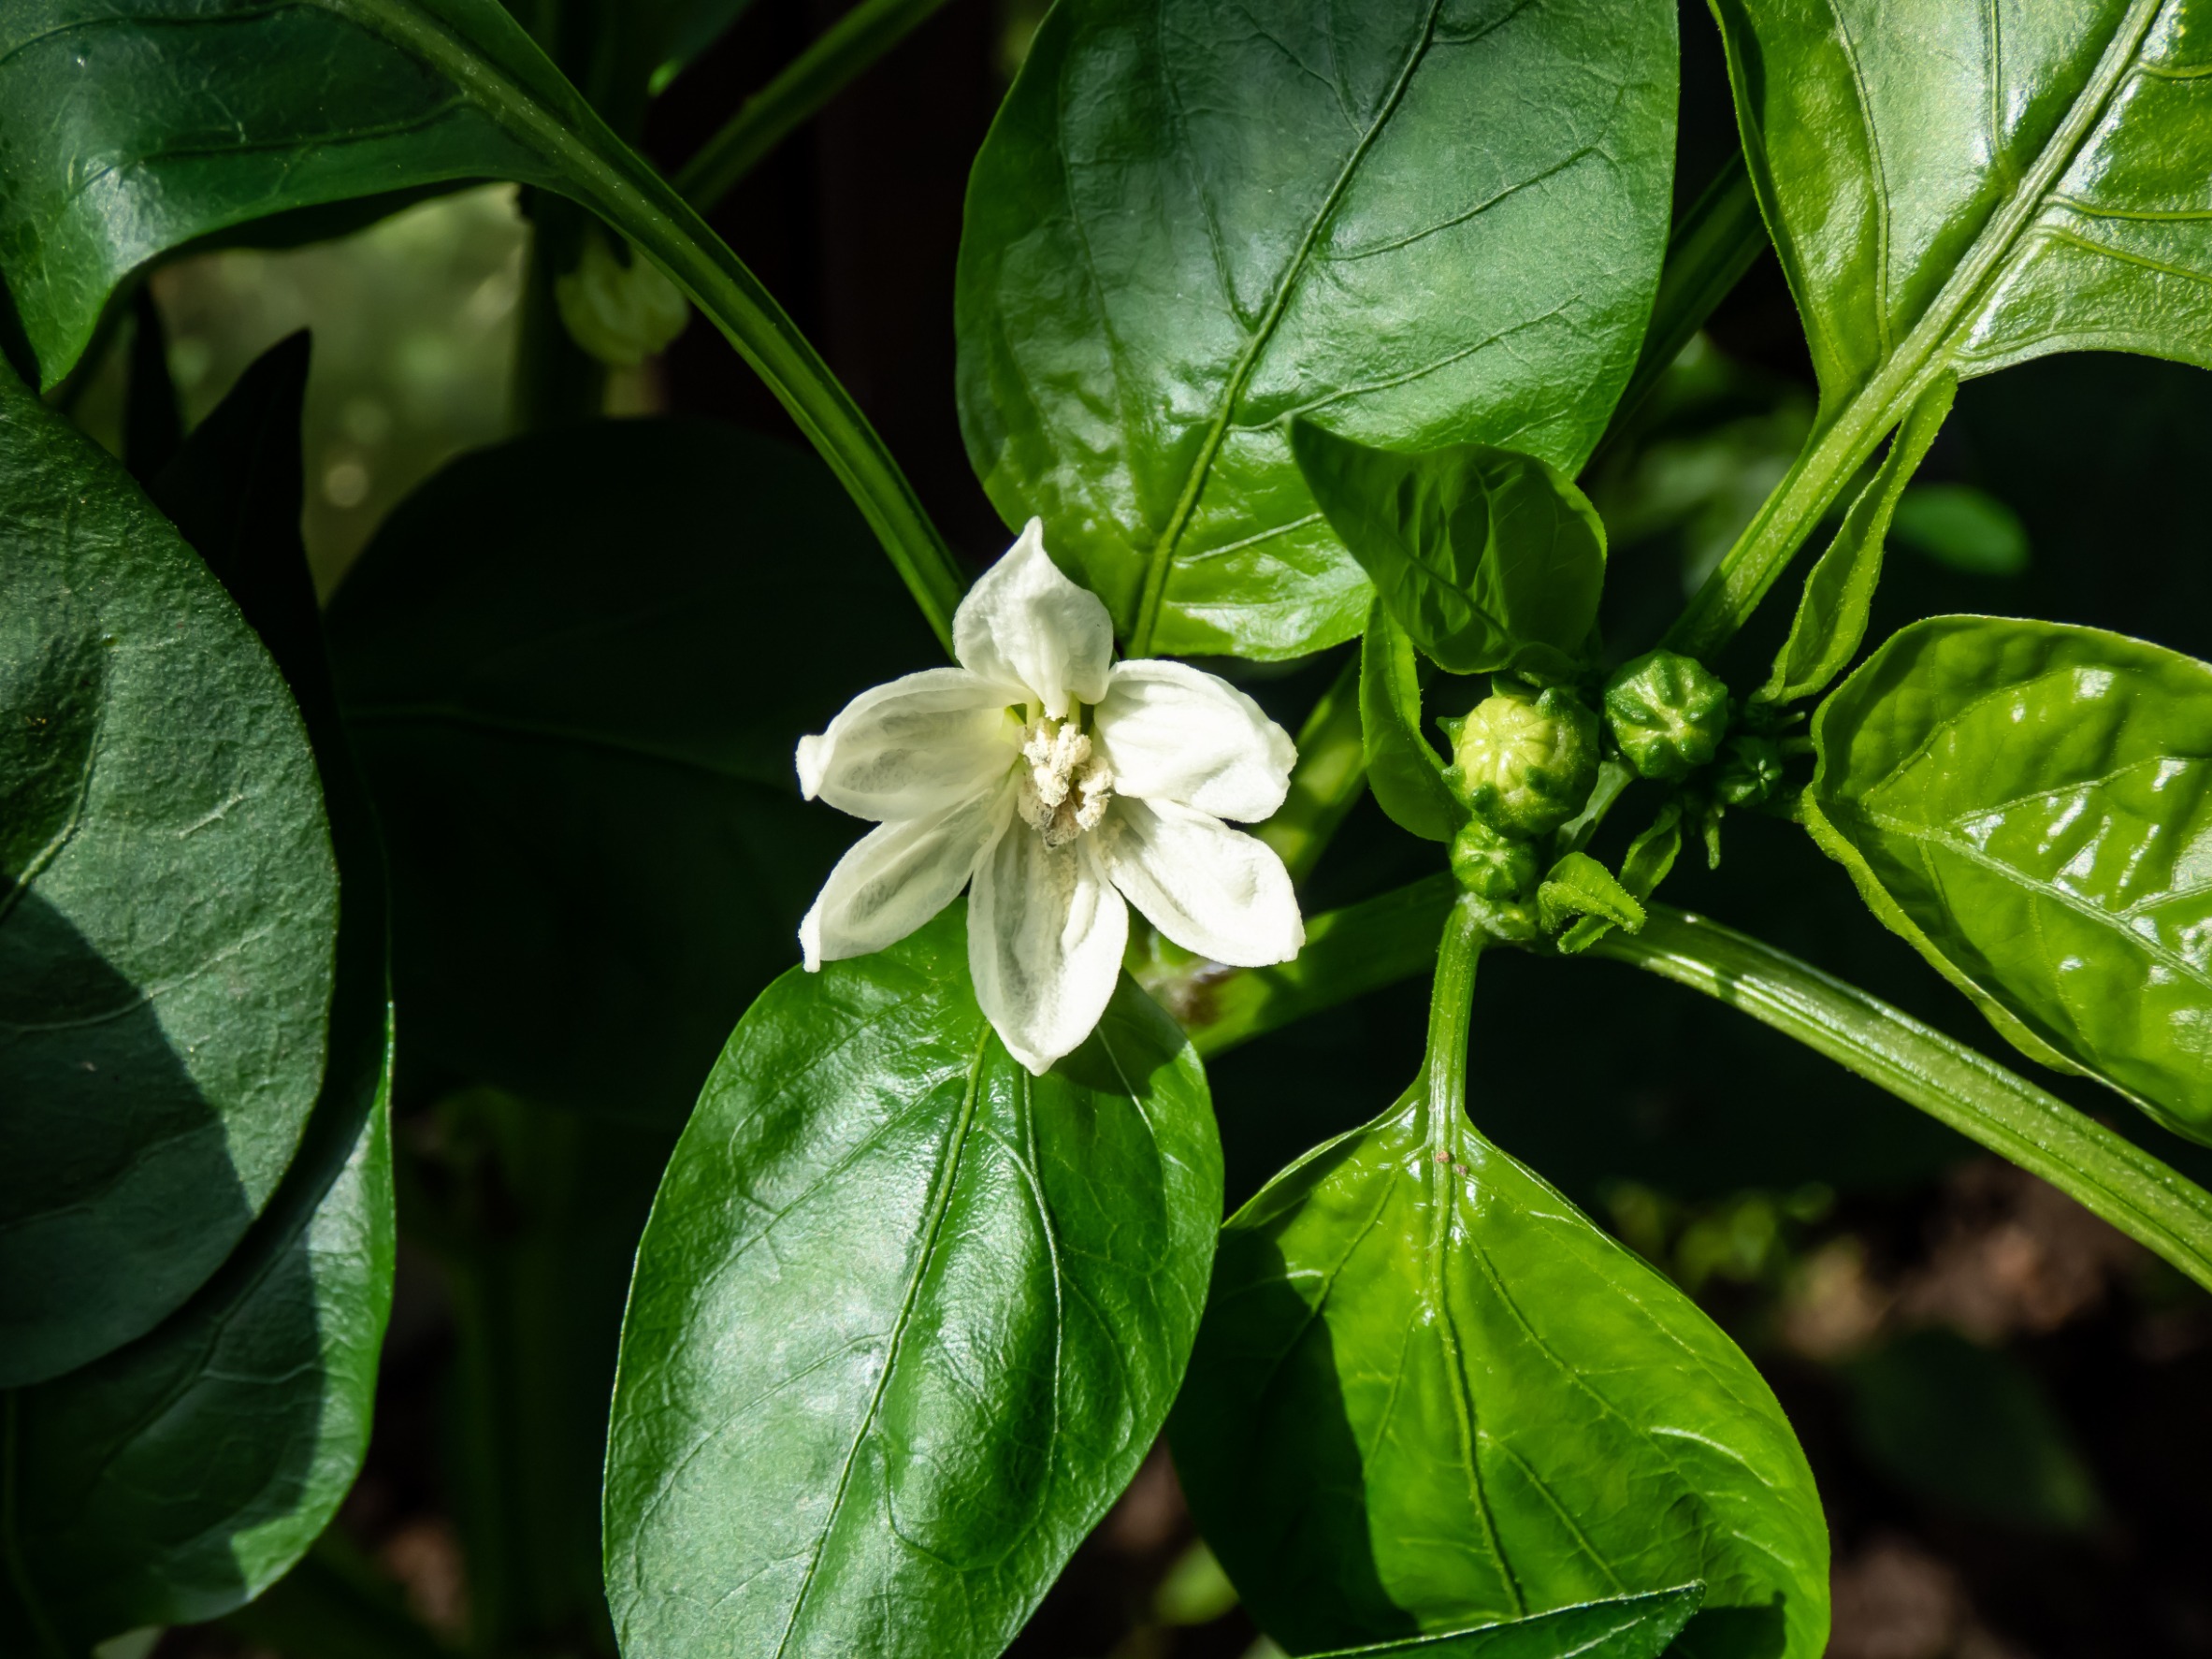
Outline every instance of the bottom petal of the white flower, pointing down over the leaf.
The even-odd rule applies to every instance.
[[[1097,1026],[1121,978],[1128,905],[1106,880],[1091,836],[1046,849],[1013,825],[975,867],[969,975],[1006,1053],[1035,1075]]]

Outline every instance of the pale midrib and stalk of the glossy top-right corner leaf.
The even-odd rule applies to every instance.
[[[1692,595],[1666,635],[1666,648],[1688,657],[1710,661],[1719,655],[1736,628],[1752,615],[1767,588],[1790,564],[1805,538],[1843,493],[1845,484],[1874,456],[1882,436],[1905,418],[1922,392],[1951,367],[1962,338],[1969,332],[1980,303],[2004,276],[2011,254],[2026,234],[2044,197],[2057,186],[2077,150],[2104,117],[2112,95],[2135,64],[2143,33],[2159,15],[2163,0],[2135,0],[2128,18],[2112,33],[2104,58],[2081,97],[2075,100],[2066,119],[2044,144],[2035,166],[1975,237],[1966,257],[1951,272],[1951,281],[1929,303],[1920,321],[1882,361],[1871,378],[1851,392],[1840,407],[1823,407],[1820,425],[1812,445],[1796,458],[1767,495],[1759,515],[1721,560],[1705,586]],[[1730,73],[1736,73],[1730,64]],[[1739,106],[1743,88],[1739,86]],[[1823,389],[1823,405],[1834,387]]]

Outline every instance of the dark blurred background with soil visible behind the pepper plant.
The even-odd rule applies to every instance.
[[[757,0],[672,71],[644,117],[653,157],[679,166],[841,9]],[[714,212],[978,566],[1006,533],[953,418],[953,259],[969,161],[1040,13],[1033,0],[951,0]],[[1688,199],[1736,139],[1714,27],[1697,4],[1681,24]],[[482,186],[334,241],[170,263],[71,387],[73,411],[122,449],[133,352],[166,354],[197,420],[259,352],[312,327],[305,533],[325,595],[427,478],[520,429],[597,409],[796,440],[697,321],[582,400],[557,389],[560,343],[544,343],[533,301],[533,221],[557,226],[557,208]],[[1617,655],[1657,637],[1809,418],[1803,338],[1763,257],[1584,480],[1613,531]],[[2212,376],[2197,369],[2073,356],[1966,385],[1898,515],[1869,637],[1936,611],[1991,611],[2212,657],[2205,453]],[[737,526],[745,500],[714,511]],[[712,518],[697,533],[710,538]],[[1752,630],[1723,664],[1739,684],[1785,617],[1763,622],[1770,633]],[[1296,728],[1338,666],[1332,655],[1243,677]],[[1310,907],[1433,863],[1363,803]],[[2015,1062],[1787,823],[1730,818],[1723,869],[1683,860],[1666,898]],[[679,1077],[703,1075],[745,998],[730,984],[701,1015],[706,1035],[672,1044]],[[1425,998],[1425,984],[1400,984],[1212,1066],[1232,1206],[1396,1095],[1418,1064]],[[2203,1292],[2033,1177],[1632,969],[1491,953],[1473,1042],[1484,1133],[1672,1274],[1783,1398],[1829,1506],[1836,1659],[2212,1655]],[[546,1057],[549,1075],[566,1064]],[[2212,1181],[2212,1157],[2117,1099],[2037,1082]],[[403,1055],[400,1084],[400,1283],[367,1471],[334,1533],[261,1604],[113,1644],[119,1657],[150,1641],[159,1659],[613,1650],[597,1597],[599,1436],[628,1254],[684,1097],[593,1110],[436,1046]],[[668,1093],[639,1084],[639,1097],[655,1091]],[[1013,1652],[1272,1650],[1155,1453]]]

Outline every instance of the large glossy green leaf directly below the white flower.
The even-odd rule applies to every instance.
[[[1130,982],[1037,1079],[975,1006],[962,905],[776,980],[637,1252],[624,1655],[998,1655],[1150,1447],[1219,1214],[1203,1071]]]

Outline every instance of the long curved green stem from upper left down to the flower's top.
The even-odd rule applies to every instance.
[[[951,549],[852,394],[706,219],[617,139],[551,64],[544,66],[549,86],[540,93],[407,0],[323,2],[458,86],[502,131],[546,157],[566,192],[653,254],[690,292],[830,462],[949,653],[951,615],[967,591]]]

